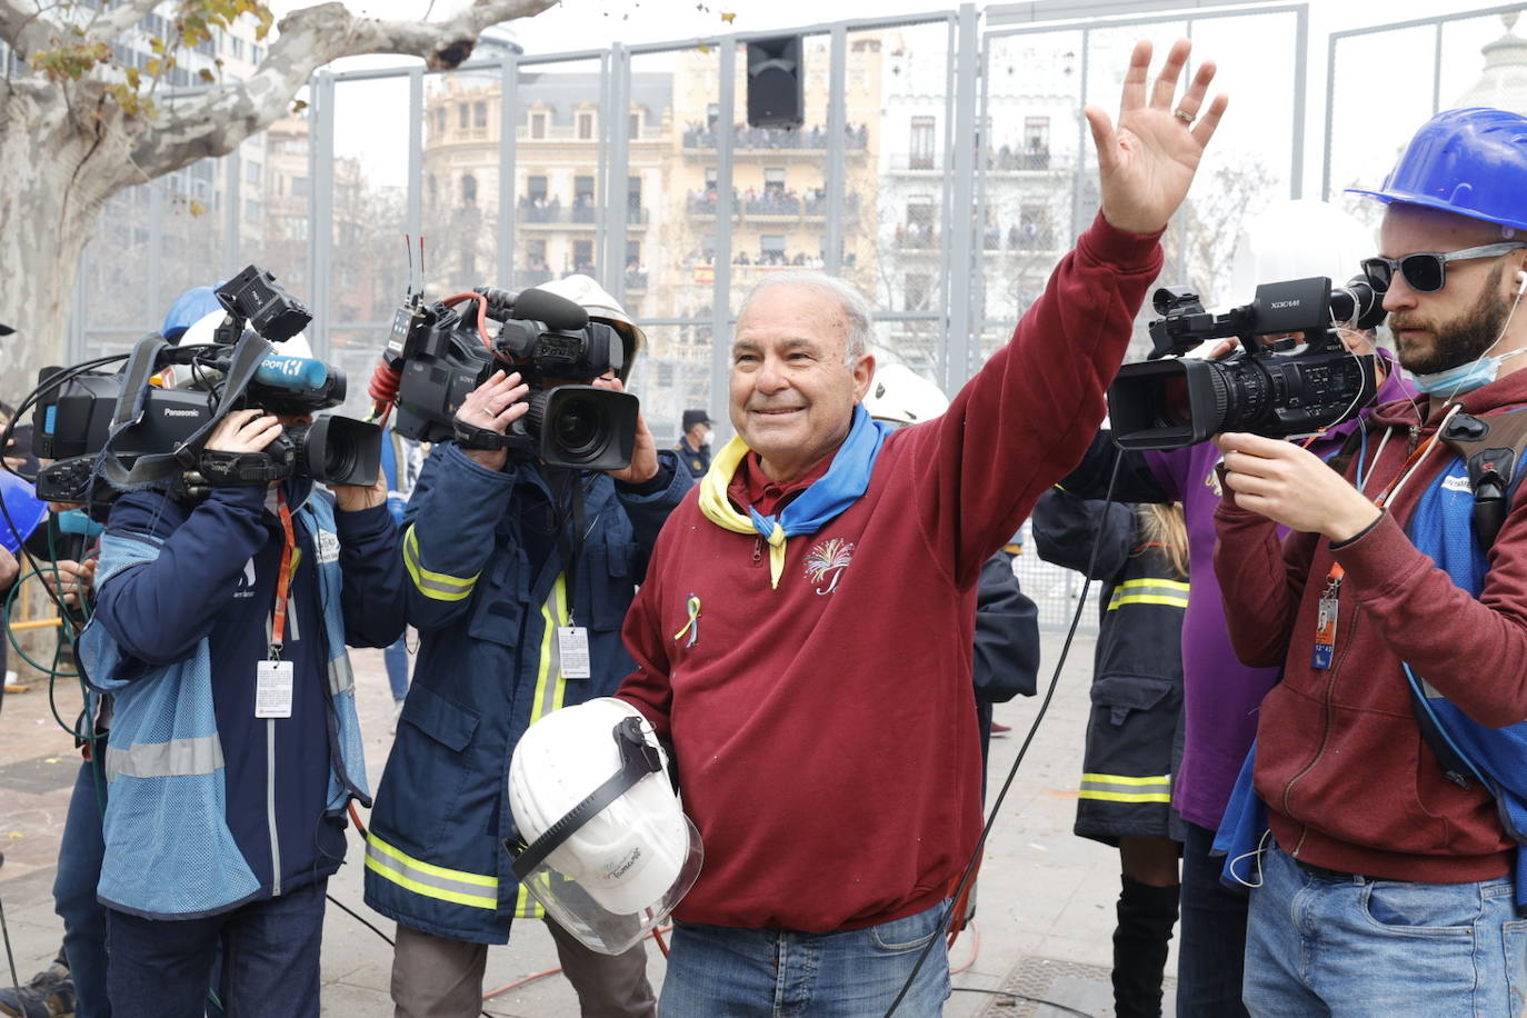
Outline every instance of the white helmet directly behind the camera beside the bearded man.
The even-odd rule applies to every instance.
[[[1373,230],[1335,205],[1313,198],[1274,201],[1241,224],[1225,304],[1246,304],[1263,282],[1328,276],[1333,287],[1341,287],[1374,250]]]

